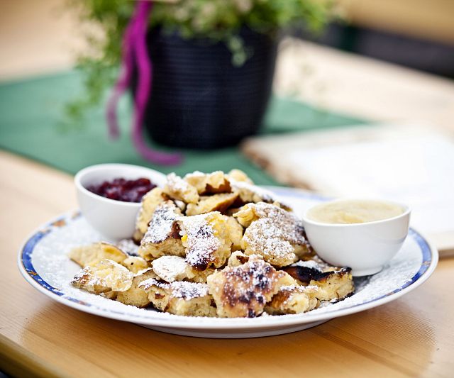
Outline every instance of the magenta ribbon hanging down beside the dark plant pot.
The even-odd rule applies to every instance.
[[[148,16],[150,15],[152,6],[153,1],[138,1],[133,17],[125,30],[123,35],[121,74],[107,102],[106,118],[109,126],[109,136],[113,139],[118,138],[120,135],[116,114],[118,100],[131,83],[134,62],[136,62],[138,84],[135,91],[133,124],[131,128],[133,144],[145,160],[157,165],[177,165],[182,162],[182,155],[152,150],[145,144],[142,135],[143,116],[150,96],[152,80],[152,66],[148,57],[146,43]]]

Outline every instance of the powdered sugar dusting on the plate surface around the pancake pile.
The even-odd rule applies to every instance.
[[[301,206],[303,201],[301,200]],[[185,323],[188,326],[197,322],[195,318],[182,317],[172,315],[170,313],[157,313],[153,308],[137,308],[134,306],[126,306],[118,301],[112,301],[102,296],[90,294],[87,291],[82,291],[72,287],[70,284],[74,274],[79,272],[80,267],[72,262],[67,254],[74,247],[79,245],[88,245],[95,243],[104,238],[96,233],[84,218],[73,218],[69,214],[65,221],[67,226],[52,227],[50,233],[45,235],[33,249],[32,262],[37,272],[44,282],[47,282],[52,287],[63,293],[62,298],[68,299],[72,303],[78,301],[82,305],[89,305],[94,310],[99,311],[100,314],[109,313],[110,316],[117,318],[135,318],[137,322],[143,323],[147,321],[156,321],[159,319],[178,318],[179,322]],[[111,240],[108,240],[111,241]],[[363,304],[367,301],[380,298],[387,295],[395,289],[402,287],[406,282],[411,280],[416,272],[421,267],[422,257],[421,249],[416,243],[416,239],[409,236],[406,239],[402,250],[392,259],[387,267],[384,267],[382,272],[375,274],[372,277],[361,277],[355,279],[356,291],[353,296],[350,296],[343,301],[336,304],[323,304],[316,310],[309,311],[308,313],[301,313],[296,315],[284,315],[282,317],[298,317],[302,319],[307,318],[312,314],[332,313],[335,310],[342,308],[349,308],[358,304]],[[331,315],[330,315],[331,316]],[[332,313],[332,316],[336,316]],[[233,324],[233,322],[252,322],[250,324],[271,323],[274,316],[262,316],[260,318],[241,318],[241,319],[223,319],[213,318],[210,321],[216,324]],[[163,323],[160,323],[161,325]]]

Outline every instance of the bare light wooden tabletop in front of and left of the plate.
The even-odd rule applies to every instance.
[[[16,267],[41,223],[76,207],[72,177],[0,152],[0,369],[43,377],[452,376],[454,259],[401,299],[288,335],[213,340],[82,313],[39,294]]]

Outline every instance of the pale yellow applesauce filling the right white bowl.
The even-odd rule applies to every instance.
[[[404,208],[384,201],[345,200],[314,206],[306,218],[331,224],[351,224],[382,221],[404,213]]]

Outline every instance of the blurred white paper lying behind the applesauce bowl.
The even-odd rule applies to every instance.
[[[338,196],[409,204],[426,233],[454,230],[454,144],[438,135],[292,150],[290,160]]]

